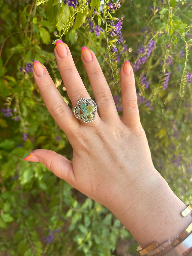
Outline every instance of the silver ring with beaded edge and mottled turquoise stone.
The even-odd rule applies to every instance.
[[[74,115],[77,119],[83,121],[84,123],[89,123],[95,119],[95,114],[97,112],[97,105],[93,100],[80,99],[74,108]]]

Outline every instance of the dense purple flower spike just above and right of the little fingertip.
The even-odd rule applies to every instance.
[[[133,62],[132,66],[134,71],[138,71],[140,67],[147,61],[151,52],[155,49],[155,41],[151,40],[147,47],[141,47],[138,51],[139,57],[136,62]]]

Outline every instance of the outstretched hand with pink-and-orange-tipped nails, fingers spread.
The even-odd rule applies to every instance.
[[[56,42],[55,56],[73,107],[81,98],[90,99],[68,46],[60,40]],[[162,200],[172,191],[151,160],[139,119],[133,70],[130,63],[125,62],[120,71],[123,116],[119,117],[95,54],[83,47],[81,57],[98,107],[90,123],[83,123],[74,116],[42,64],[35,62],[33,70],[48,111],[72,145],[73,161],[45,149],[32,151],[26,160],[41,162],[55,175],[106,206],[143,246],[150,239],[156,239],[149,234],[150,225],[143,224],[143,218],[149,218],[149,208],[153,207],[160,189],[165,190]],[[170,200],[173,197],[171,193]],[[151,218],[153,215],[156,218],[156,211],[150,214]]]

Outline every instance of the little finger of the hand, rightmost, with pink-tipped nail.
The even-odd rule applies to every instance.
[[[122,121],[132,129],[140,127],[135,77],[129,61],[121,67]]]

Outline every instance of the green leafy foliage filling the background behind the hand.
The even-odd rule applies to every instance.
[[[136,62],[137,50],[155,41],[147,62],[135,72],[138,97],[144,98],[139,103],[141,122],[155,167],[183,202],[192,201],[192,88],[186,79],[192,73],[191,0],[122,1],[113,13],[107,10],[111,1],[105,0],[103,12],[97,10],[94,17],[99,0],[88,5],[77,2],[77,8],[72,8],[59,0],[0,0],[0,108],[13,110],[11,117],[0,114],[2,255],[116,255],[117,240],[132,239],[105,207],[79,194],[40,163],[24,161],[36,148],[52,149],[72,159],[66,135],[44,106],[32,73],[25,69],[34,60],[42,62],[72,108],[53,54],[57,39],[69,45],[91,95],[80,59],[82,46],[95,52],[113,95],[119,97],[121,65],[125,60]],[[94,27],[103,28],[98,37],[89,31],[89,16]],[[124,41],[112,53],[119,37],[109,36],[108,22],[121,17]],[[123,52],[125,44],[128,49]],[[168,87],[163,90],[168,72]],[[150,82],[147,89],[142,74]],[[26,132],[24,141],[22,133]]]

